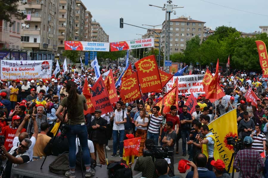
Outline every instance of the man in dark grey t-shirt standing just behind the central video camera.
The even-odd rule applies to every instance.
[[[173,129],[173,123],[171,121],[166,122],[166,135],[162,139],[163,143],[166,143],[169,147],[169,151],[172,151],[172,157],[170,158],[170,169],[174,175],[174,143],[176,142],[177,134]]]

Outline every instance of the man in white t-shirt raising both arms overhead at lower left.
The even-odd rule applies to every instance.
[[[17,131],[16,131],[16,134],[15,134],[15,137],[13,139],[13,146],[18,146],[20,142],[22,142],[25,138],[28,138],[28,134],[27,132],[21,132],[22,128],[24,127],[25,123],[29,120],[30,118],[30,115],[27,114],[23,121],[21,122],[21,124],[19,125]],[[32,141],[32,144],[31,146],[29,147],[29,149],[26,151],[28,154],[29,154],[29,157],[30,157],[30,161],[32,161],[32,155],[33,155],[33,147],[35,146],[35,142],[36,142],[36,139],[37,139],[37,135],[38,135],[38,125],[37,125],[37,122],[36,122],[36,115],[33,114],[32,115],[32,120],[33,120],[33,125],[34,125],[34,133],[32,134],[32,137],[30,138],[30,140]]]

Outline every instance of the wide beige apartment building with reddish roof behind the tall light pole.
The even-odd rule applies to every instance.
[[[163,32],[165,31],[165,21],[163,24]],[[193,20],[190,16],[171,19],[170,20],[170,54],[183,52],[186,49],[186,42],[198,35],[201,38],[201,42],[204,37],[204,24],[205,22],[199,20]],[[161,39],[164,45],[165,33]],[[163,46],[161,45],[161,46]],[[163,46],[164,47],[164,46]],[[161,47],[162,48],[162,47]],[[163,50],[163,48],[162,48]]]

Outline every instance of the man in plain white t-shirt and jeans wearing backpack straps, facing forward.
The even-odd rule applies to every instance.
[[[116,110],[113,113],[110,121],[113,121],[113,155],[112,158],[116,157],[117,142],[119,140],[119,158],[123,158],[123,145],[124,145],[124,134],[125,126],[127,123],[127,114],[121,109],[123,105],[122,101],[116,103]]]

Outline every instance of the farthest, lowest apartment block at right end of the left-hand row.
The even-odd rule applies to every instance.
[[[91,41],[92,42],[109,42],[109,35],[105,33],[99,22],[91,21]]]

